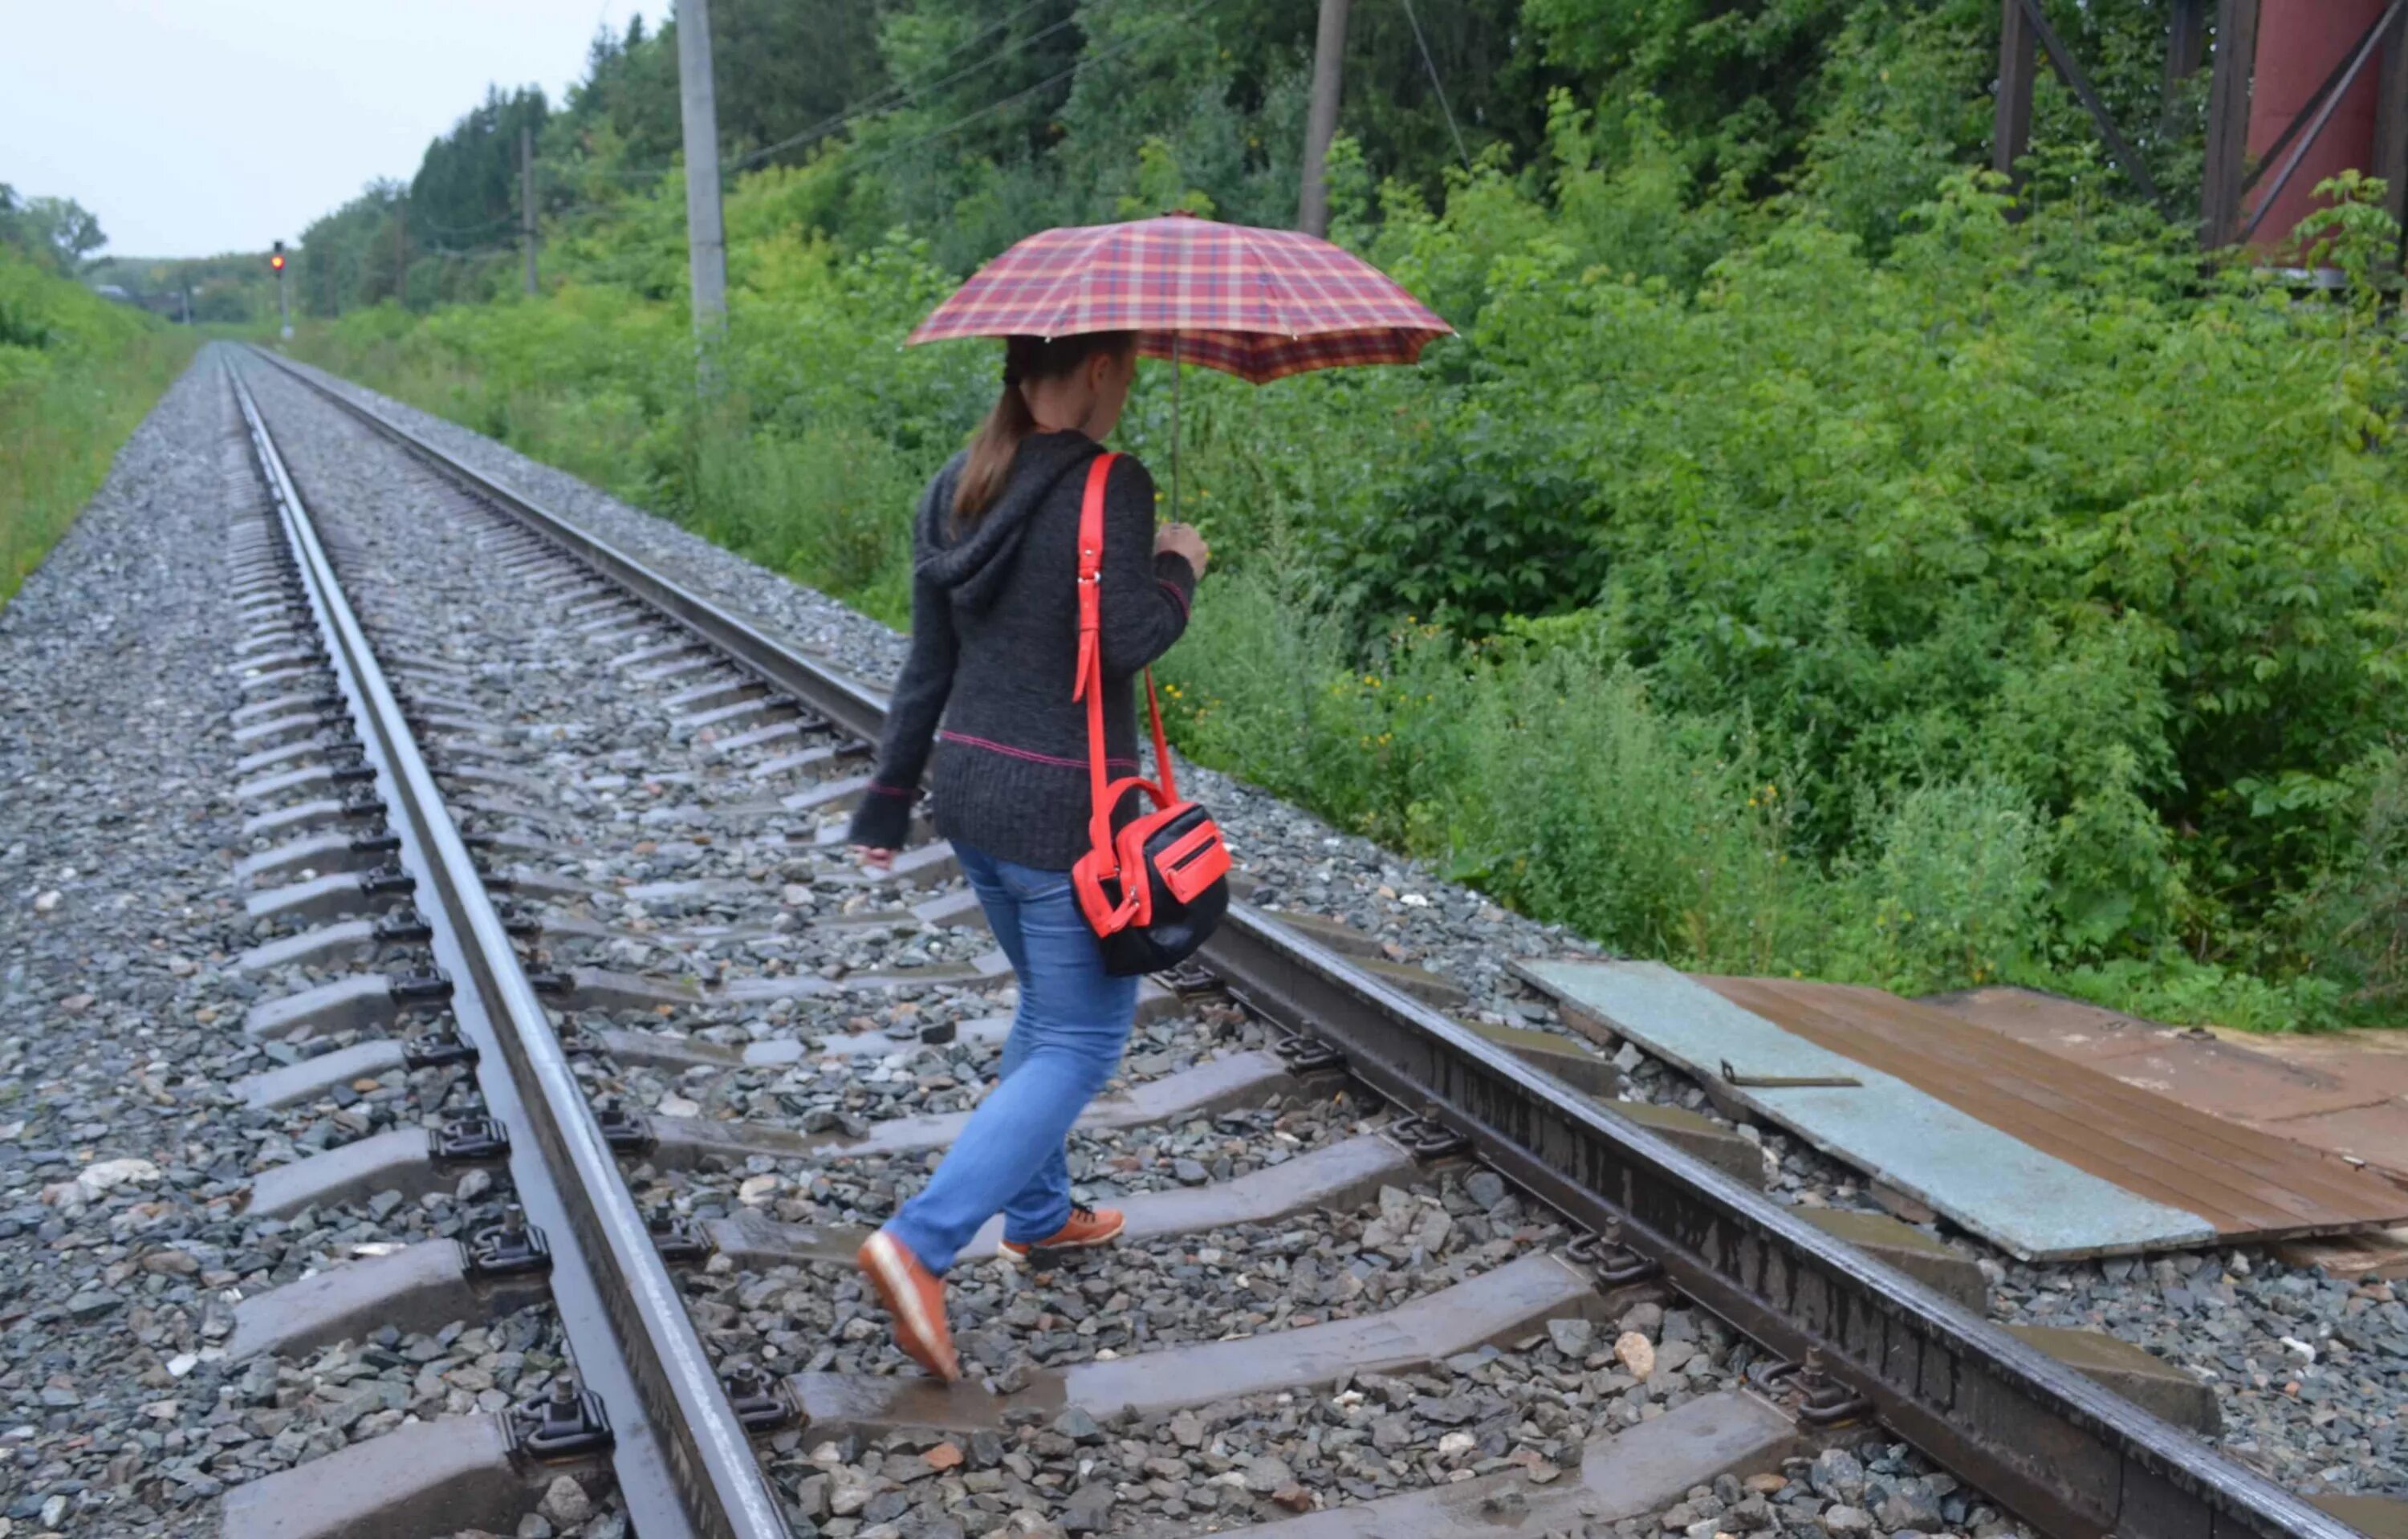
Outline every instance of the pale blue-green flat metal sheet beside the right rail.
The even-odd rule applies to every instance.
[[[1731,1089],[1767,1120],[2025,1257],[2109,1255],[2215,1238],[2199,1214],[2124,1187],[1970,1118],[1938,1096],[1784,1031],[1662,963],[1536,961],[1524,973],[1700,1079],[1859,1079],[1847,1089]]]

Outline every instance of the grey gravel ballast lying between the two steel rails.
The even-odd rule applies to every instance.
[[[270,412],[306,417],[311,402],[287,381],[265,378],[258,393]],[[325,407],[318,407],[325,417]],[[554,877],[573,874],[578,889],[530,884],[520,910],[544,925],[547,966],[643,966],[686,975],[713,987],[739,980],[821,978],[944,968],[963,963],[992,942],[975,927],[929,932],[925,925],[840,925],[828,915],[828,891],[857,884],[840,848],[816,843],[816,826],[763,812],[763,788],[742,754],[725,754],[701,732],[674,725],[691,706],[691,689],[708,672],[648,677],[643,667],[616,667],[616,658],[648,650],[643,629],[621,631],[602,612],[588,614],[576,585],[542,564],[496,564],[486,547],[498,537],[489,513],[462,508],[448,489],[378,450],[356,426],[330,421],[323,436],[287,434],[287,460],[303,496],[318,508],[340,561],[359,573],[388,571],[405,552],[412,561],[407,602],[393,595],[361,597],[371,636],[390,633],[426,648],[443,667],[462,670],[443,710],[462,732],[486,742],[477,763],[498,771],[506,800],[477,804],[479,826],[527,838],[576,841],[573,853],[554,850]],[[498,571],[496,571],[498,566]],[[597,631],[600,629],[600,631]],[[474,650],[453,638],[474,636]],[[470,672],[472,670],[472,672]],[[609,691],[592,689],[597,674],[616,674]],[[530,723],[561,730],[537,732]],[[433,747],[438,773],[455,768],[445,747]],[[510,780],[515,778],[515,780]],[[771,790],[783,790],[773,785]],[[484,795],[484,792],[479,792]],[[730,838],[730,809],[744,838]],[[573,829],[554,814],[576,814]],[[785,841],[763,838],[763,831]],[[662,853],[691,853],[674,869],[674,891],[662,894]],[[958,884],[937,889],[958,891]],[[641,896],[641,901],[636,901]],[[898,898],[901,903],[901,898]],[[604,920],[607,932],[580,930]],[[566,937],[566,939],[556,939]],[[973,1002],[970,985],[956,995],[937,990],[937,1009],[920,995],[848,995],[843,1007],[804,997],[787,1009],[768,1007],[662,1007],[641,1019],[665,1036],[703,1036],[749,1045],[797,1043],[799,1057],[766,1069],[696,1065],[684,1072],[660,1067],[621,1069],[607,1050],[583,1060],[597,1093],[614,1093],[662,1118],[749,1118],[795,1125],[804,1132],[852,1137],[877,1125],[932,1110],[966,1108],[995,1067],[995,1045],[901,1048],[872,1060],[831,1060],[824,1043],[836,1036],[889,1031],[908,1038],[903,1021],[961,1019],[968,1009],[1009,1004],[1009,985],[985,990]],[[588,1021],[588,1028],[626,1028],[626,1014]],[[1178,1074],[1216,1050],[1264,1045],[1264,1033],[1243,1012],[1197,1004],[1141,1028],[1125,1081]],[[1370,1120],[1365,1120],[1370,1118]],[[1332,1139],[1365,1132],[1385,1120],[1385,1108],[1353,1096],[1274,1093],[1259,1105],[1173,1118],[1156,1127],[1093,1130],[1072,1139],[1079,1195],[1096,1202],[1243,1178],[1267,1163],[1312,1151]],[[807,1158],[754,1156],[742,1166],[706,1158],[694,1171],[633,1171],[645,1207],[694,1219],[720,1219],[744,1207],[763,1207],[787,1223],[877,1223],[925,1180],[934,1154],[845,1156],[828,1149]],[[954,1325],[980,1382],[1014,1392],[1035,1373],[1084,1361],[1110,1361],[1178,1344],[1202,1344],[1286,1327],[1380,1315],[1447,1286],[1464,1284],[1536,1250],[1560,1248],[1570,1233],[1548,1214],[1527,1214],[1503,1183],[1481,1173],[1399,1178],[1375,1202],[1344,1211],[1300,1211],[1276,1223],[1247,1223],[1209,1233],[1163,1236],[1076,1257],[1076,1264],[1016,1269],[1002,1262],[966,1264],[954,1279]],[[891,1346],[884,1315],[864,1296],[845,1264],[768,1267],[763,1272],[710,1262],[689,1284],[689,1308],[722,1366],[754,1363],[771,1373],[917,1373]],[[1686,1320],[1686,1317],[1683,1317]],[[1560,1322],[1563,1344],[1599,1363],[1616,1363],[1611,1339],[1594,1342],[1584,1320]],[[1556,1344],[1536,1329],[1531,1344]],[[1515,1416],[1531,1382],[1517,1346],[1486,1349],[1416,1375],[1394,1414],[1380,1421],[1377,1450],[1365,1447],[1346,1464],[1358,1493],[1389,1493],[1454,1472],[1486,1474],[1510,1462],[1560,1469],[1577,1457],[1580,1407],[1589,1394],[1582,1373],[1558,1375],[1558,1404]],[[1731,1387],[1739,1363],[1688,1342],[1664,1344],[1664,1407],[1693,1392]],[[1601,1368],[1618,1373],[1621,1368]],[[1483,1397],[1483,1387],[1505,1387]],[[1616,1385],[1616,1394],[1640,1380]],[[1336,1390],[1353,1416],[1363,1392]],[[1570,1397],[1570,1399],[1563,1399]],[[1281,1397],[1257,1397],[1276,1402]],[[1286,1397],[1293,1402],[1296,1397]],[[1435,1407],[1430,1414],[1416,1404]],[[1649,1404],[1649,1392],[1630,1399],[1630,1419]],[[1028,1428],[1028,1447],[963,1450],[995,1452],[995,1469],[1011,1488],[973,1491],[985,1469],[968,1469],[961,1500],[946,1481],[925,1493],[934,1505],[927,1522],[961,1522],[963,1532],[992,1532],[1021,1515],[1072,1532],[1132,1532],[1161,1520],[1206,1517],[1216,1527],[1247,1515],[1293,1513],[1298,1503],[1324,1500],[1300,1486],[1317,1479],[1317,1457],[1296,1445],[1288,1414],[1267,1407],[1233,1407],[1214,1431],[1216,1469],[1192,1481],[1151,1474],[1161,1488],[1112,1496],[1098,1486],[1100,1467],[1081,1450],[1098,1431],[1079,1411],[1064,1428]],[[1527,1409],[1527,1407],[1524,1407]],[[1474,1419],[1493,1423],[1464,1431]],[[1358,1431],[1368,1414],[1353,1416]],[[1529,1421],[1524,1433],[1522,1421]],[[1368,1433],[1365,1433],[1368,1435]],[[1348,1445],[1336,1438],[1336,1447]],[[1055,1447],[1060,1443],[1060,1447]],[[1320,1443],[1320,1438],[1312,1438]],[[1486,1452],[1483,1452],[1486,1450]],[[821,1445],[790,1452],[821,1455]],[[877,1450],[857,1457],[807,1457],[778,1462],[783,1488],[807,1525],[826,1522],[831,1534],[884,1534],[881,1520],[901,1520],[901,1491],[872,1491],[881,1476]],[[925,1450],[922,1450],[925,1452]],[[1062,1455],[1062,1469],[1035,1462]],[[1173,1460],[1175,1455],[1163,1455]],[[1298,1476],[1291,1460],[1303,1460]],[[1028,1462],[1026,1474],[1019,1464]],[[1223,1496],[1233,1491],[1211,1476],[1230,1462],[1245,1464],[1267,1505]],[[908,1469],[908,1464],[893,1464]],[[934,1464],[920,1462],[929,1476]],[[1264,1472],[1286,1469],[1269,1479]],[[845,1484],[845,1493],[824,1493]],[[1332,1467],[1334,1479],[1334,1467]],[[848,1481],[860,1481],[850,1486]],[[1264,1484],[1269,1481],[1269,1484]],[[1327,1500],[1348,1488],[1332,1486]],[[826,1500],[824,1500],[826,1496]],[[862,1496],[852,1510],[850,1496]],[[951,1517],[944,1513],[956,1508]],[[867,1527],[862,1527],[867,1520]]]

